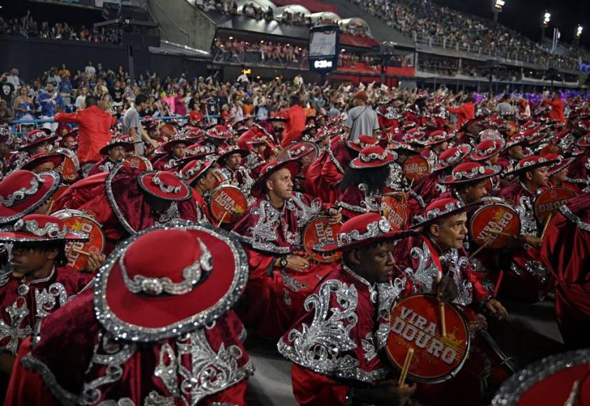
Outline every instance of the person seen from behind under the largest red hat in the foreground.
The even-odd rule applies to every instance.
[[[245,405],[254,368],[231,310],[248,277],[240,244],[179,221],[110,258],[93,291],[22,344],[6,405]]]

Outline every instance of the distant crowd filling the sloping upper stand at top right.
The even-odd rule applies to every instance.
[[[491,52],[511,59],[518,59],[545,66],[556,65],[568,69],[577,68],[572,57],[553,55],[526,36],[504,27],[493,25],[492,20],[468,15],[431,0],[354,0],[359,6],[390,22],[407,36],[438,38],[439,45],[458,45],[473,52]],[[436,43],[436,42],[435,42]]]

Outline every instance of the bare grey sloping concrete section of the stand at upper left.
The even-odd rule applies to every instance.
[[[170,43],[198,50],[211,49],[214,22],[188,0],[148,0],[151,18],[160,25],[160,36]]]

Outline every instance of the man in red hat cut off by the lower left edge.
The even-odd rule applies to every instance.
[[[3,374],[10,374],[22,340],[90,282],[90,275],[64,267],[66,242],[85,239],[87,235],[71,232],[59,218],[44,214],[24,216],[11,229],[0,232],[0,241],[13,244],[12,274],[0,287]]]

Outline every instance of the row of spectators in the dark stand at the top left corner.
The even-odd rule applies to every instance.
[[[71,25],[67,22],[35,21],[30,14],[22,18],[7,18],[0,16],[0,35],[16,35],[25,38],[67,39],[70,41],[85,41],[92,43],[119,43],[121,29],[118,27],[101,27],[94,29],[85,25]]]

